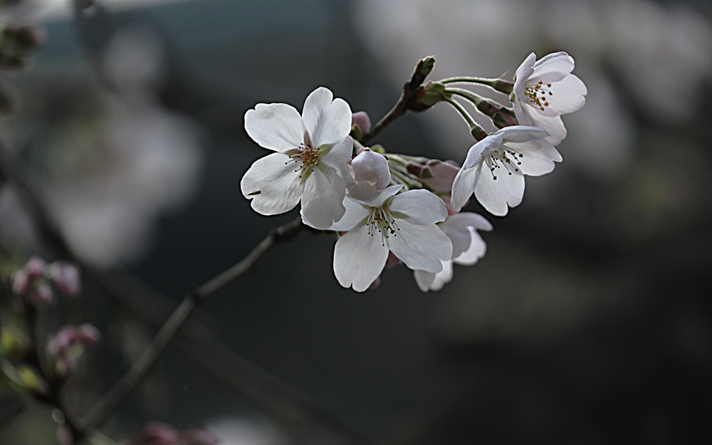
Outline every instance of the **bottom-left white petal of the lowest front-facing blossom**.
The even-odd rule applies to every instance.
[[[370,236],[365,225],[357,226],[336,241],[334,274],[341,286],[363,292],[381,274],[388,248],[380,236]]]

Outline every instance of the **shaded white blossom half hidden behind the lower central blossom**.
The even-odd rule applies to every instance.
[[[449,215],[438,227],[452,242],[452,259],[443,261],[443,270],[437,273],[428,271],[414,271],[413,276],[418,287],[423,292],[440,290],[452,280],[453,263],[461,266],[472,266],[482,258],[487,251],[487,245],[478,230],[492,230],[492,224],[483,216],[463,212]]]

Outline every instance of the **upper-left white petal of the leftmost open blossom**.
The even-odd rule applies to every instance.
[[[286,103],[258,103],[247,110],[245,130],[261,147],[278,152],[299,147],[306,132],[299,112]]]

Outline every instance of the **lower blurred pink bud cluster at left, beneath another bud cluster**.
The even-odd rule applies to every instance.
[[[99,330],[89,323],[78,328],[63,326],[47,342],[47,353],[55,362],[55,370],[61,377],[67,377],[77,367],[78,360],[85,347],[100,340]]]

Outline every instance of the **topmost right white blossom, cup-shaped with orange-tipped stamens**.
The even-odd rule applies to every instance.
[[[566,137],[561,115],[586,103],[586,85],[571,74],[574,59],[567,53],[552,53],[536,61],[531,53],[517,68],[511,95],[520,125],[547,130],[547,140],[558,145]]]

